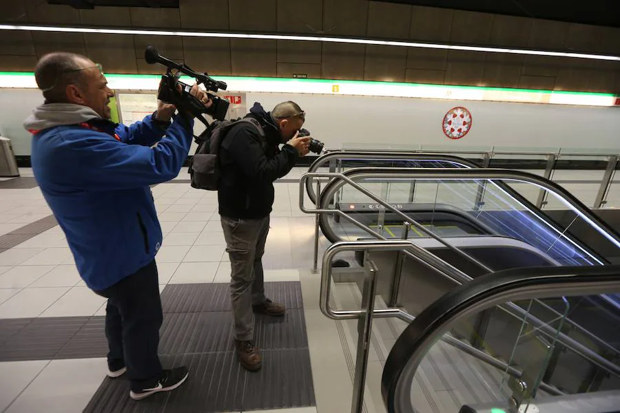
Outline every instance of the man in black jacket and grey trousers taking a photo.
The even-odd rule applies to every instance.
[[[298,138],[305,113],[293,102],[280,103],[271,113],[255,103],[247,117],[258,120],[265,136],[251,123],[240,123],[226,134],[219,152],[218,202],[230,256],[236,352],[243,367],[258,370],[262,362],[254,345],[253,311],[274,317],[285,313],[282,304],[265,297],[263,284],[273,181],[308,153],[309,137]]]

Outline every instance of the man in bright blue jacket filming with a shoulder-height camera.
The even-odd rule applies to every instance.
[[[157,354],[163,314],[155,255],[162,233],[149,185],[177,176],[193,120],[159,102],[142,122],[112,123],[107,105],[114,92],[101,66],[78,54],[43,56],[34,76],[45,103],[24,122],[34,135],[32,170],[81,277],[108,299],[108,375],[126,371],[135,400],[174,390],[187,368],[163,370]],[[192,94],[211,105],[197,85]]]

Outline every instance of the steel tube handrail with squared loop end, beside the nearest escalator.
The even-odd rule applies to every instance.
[[[453,279],[455,282],[458,282],[457,279],[462,278],[463,276],[468,278],[468,281],[471,281],[472,278],[468,275],[462,273],[457,268],[453,267],[448,262],[445,262],[440,257],[436,257],[432,253],[429,253],[424,248],[420,248],[420,246],[415,245],[412,241],[409,240],[399,240],[399,241],[384,241],[384,240],[376,240],[376,241],[342,241],[336,242],[327,248],[323,255],[322,260],[322,269],[321,269],[321,293],[319,298],[320,310],[323,315],[329,317],[330,319],[356,319],[360,317],[364,310],[333,310],[329,305],[329,297],[331,297],[331,279],[332,279],[332,270],[331,270],[331,261],[333,257],[344,251],[406,251],[413,255],[418,261],[423,262],[429,267],[435,269],[442,273],[442,275],[448,277],[448,279]],[[465,284],[465,283],[463,283]],[[615,374],[620,377],[620,366],[608,361],[597,352],[592,351],[590,348],[584,346],[579,343],[579,341],[572,339],[564,332],[558,332],[552,326],[549,326],[544,321],[541,321],[537,317],[528,313],[528,311],[523,308],[517,306],[512,302],[503,302],[508,310],[508,313],[512,313],[513,315],[517,315],[519,318],[528,320],[531,324],[536,326],[540,332],[543,332],[545,335],[550,337],[557,337],[557,341],[561,343],[563,346],[572,350],[576,354],[579,354],[584,359],[587,359],[591,363],[594,363],[596,366],[607,370],[608,372]],[[374,317],[397,317],[407,322],[413,321],[415,317],[409,315],[405,311],[400,308],[378,308],[373,310]],[[472,354],[474,355],[474,354]]]

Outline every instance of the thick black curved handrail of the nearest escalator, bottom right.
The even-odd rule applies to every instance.
[[[459,286],[413,320],[398,337],[382,374],[382,396],[389,413],[413,413],[411,380],[433,344],[455,322],[508,301],[599,295],[620,290],[620,266],[520,268],[483,275]],[[620,375],[620,366],[592,353],[599,366]],[[603,366],[604,365],[604,366]],[[409,400],[409,404],[407,404]]]

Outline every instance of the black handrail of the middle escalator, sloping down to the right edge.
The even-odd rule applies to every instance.
[[[612,229],[606,222],[598,218],[592,211],[586,207],[580,200],[575,198],[570,192],[566,191],[563,187],[555,182],[552,182],[541,176],[537,176],[533,173],[514,171],[511,169],[413,169],[413,168],[384,168],[384,167],[364,167],[364,168],[352,168],[342,173],[342,177],[345,176],[350,179],[351,176],[364,176],[371,174],[388,175],[389,178],[411,178],[415,179],[485,179],[485,180],[520,180],[531,184],[536,184],[547,191],[555,193],[564,201],[568,202],[574,207],[581,218],[585,218],[586,222],[592,226],[598,227],[599,233],[610,240],[613,244],[620,248],[620,235]],[[333,182],[336,182],[333,180]],[[333,184],[331,182],[331,184]],[[327,186],[323,192],[327,191]]]

